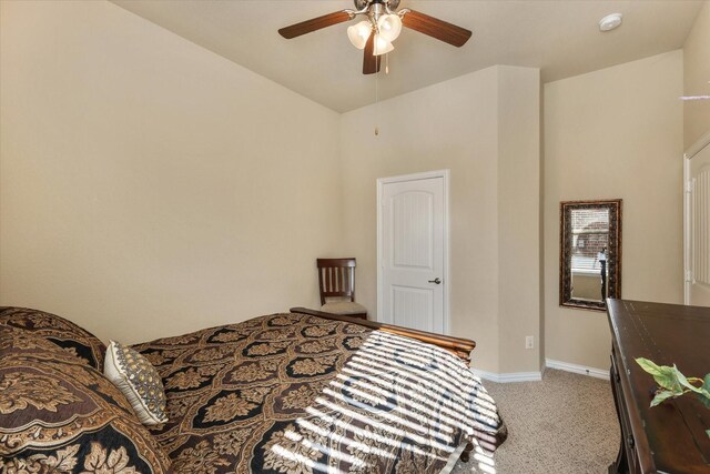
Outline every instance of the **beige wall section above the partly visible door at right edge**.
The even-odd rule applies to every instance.
[[[683,46],[686,95],[710,95],[710,1],[706,1]],[[710,132],[710,100],[683,104],[684,148]]]

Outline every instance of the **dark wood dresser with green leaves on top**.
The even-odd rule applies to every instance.
[[[710,410],[692,394],[649,407],[656,383],[635,361],[710,372],[710,307],[608,300],[611,390],[621,445],[609,473],[710,473]]]

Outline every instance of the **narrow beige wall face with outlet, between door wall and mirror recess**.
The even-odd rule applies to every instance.
[[[498,80],[498,373],[540,370],[539,70],[500,67]],[[526,335],[535,350],[525,349]]]

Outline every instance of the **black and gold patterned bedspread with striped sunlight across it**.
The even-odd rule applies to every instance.
[[[176,473],[435,473],[505,430],[465,364],[408,337],[274,314],[135,345],[170,421]]]

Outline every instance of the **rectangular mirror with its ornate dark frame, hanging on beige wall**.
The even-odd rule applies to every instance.
[[[560,203],[559,304],[605,311],[621,297],[621,200]]]

